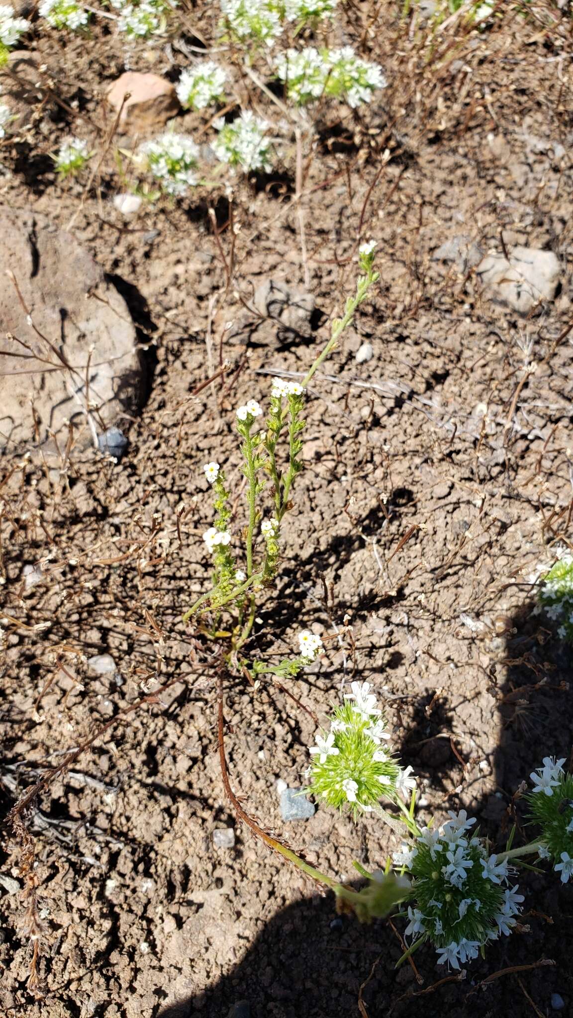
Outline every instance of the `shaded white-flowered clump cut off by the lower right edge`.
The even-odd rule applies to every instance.
[[[573,777],[563,770],[565,757],[543,757],[531,775],[527,793],[529,816],[541,828],[538,854],[550,858],[563,884],[573,875]]]

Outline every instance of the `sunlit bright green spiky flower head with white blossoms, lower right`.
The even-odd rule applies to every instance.
[[[346,703],[330,716],[330,729],[311,748],[309,791],[355,818],[377,807],[380,798],[399,803],[410,798],[415,779],[403,771],[390,746],[385,720],[368,682],[353,682]],[[327,749],[323,748],[327,746]]]

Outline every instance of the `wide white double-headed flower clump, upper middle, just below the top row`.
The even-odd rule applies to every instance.
[[[327,96],[342,99],[354,109],[370,102],[373,93],[387,84],[382,68],[357,57],[352,46],[289,49],[278,54],[274,66],[289,98],[299,106]]]

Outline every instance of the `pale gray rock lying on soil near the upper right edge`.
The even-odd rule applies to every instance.
[[[535,304],[553,300],[560,271],[553,251],[514,247],[509,261],[504,254],[488,254],[479,264],[477,275],[491,300],[528,315]]]

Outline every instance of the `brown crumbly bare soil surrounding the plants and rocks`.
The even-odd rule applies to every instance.
[[[315,729],[302,706],[324,716],[341,683],[368,679],[385,698],[420,776],[420,816],[463,806],[498,844],[520,781],[571,749],[570,659],[531,616],[530,577],[571,540],[572,22],[556,5],[527,19],[504,8],[486,32],[455,25],[430,46],[398,4],[341,7],[330,41],[377,60],[388,88],[360,113],[320,110],[299,188],[288,139],[278,172],[238,177],[230,199],[221,183],[125,222],[108,201],[119,189],[111,148],[88,190],[54,179],[48,154],[77,129],[65,109],[39,115],[36,149],[3,143],[2,204],[62,227],[73,216],[149,349],[141,413],[118,421],[129,438],[121,463],[79,444],[61,469],[21,449],[1,464],[4,809],[110,723],[28,812],[43,993],[27,989],[31,945],[12,887],[1,898],[2,1016],[225,1018],[248,1000],[254,1018],[485,1018],[552,1014],[556,993],[563,1013],[573,1003],[572,892],[555,874],[522,872],[520,930],[464,979],[429,948],[416,954],[417,978],[393,968],[400,922],[332,922],[333,901],[240,825],[235,848],[212,842],[236,823],[212,652],[180,621],[208,581],[201,467],[216,458],[239,489],[233,408],[265,403],[266,372],[306,372],[354,286],[360,238],[378,241],[380,282],[313,380],[306,469],[252,642],[259,657],[282,656],[314,626],[326,655],[290,686],[301,706],[274,686],[225,688],[232,786],[305,858],[351,880],[353,859],[383,864],[392,833],[320,806],[284,824],[275,789],[304,783]],[[211,5],[191,4],[183,37],[209,41],[215,20]],[[89,43],[47,31],[34,45],[101,153],[101,97],[124,48],[105,25]],[[141,43],[129,56],[171,79],[186,63],[175,45]],[[276,119],[238,62],[233,72],[241,101]],[[186,115],[177,129],[181,119],[192,133],[208,123]],[[494,303],[471,266],[434,257],[460,234],[484,252],[555,251],[556,298],[527,318]],[[279,347],[272,329],[225,330],[269,278],[314,294],[309,340]],[[359,364],[366,340],[374,355]],[[224,377],[200,388],[224,358]],[[239,499],[238,529],[244,518]],[[24,566],[41,561],[40,582],[24,588]],[[95,675],[80,657],[103,654],[116,674]],[[6,838],[1,873],[18,881],[20,862]]]

